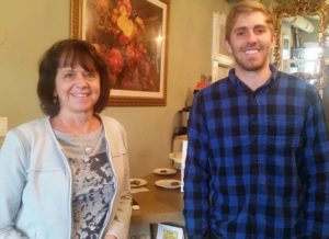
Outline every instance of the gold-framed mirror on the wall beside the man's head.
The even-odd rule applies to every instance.
[[[322,95],[326,83],[327,9],[324,0],[293,0],[274,9],[274,64],[315,84]]]

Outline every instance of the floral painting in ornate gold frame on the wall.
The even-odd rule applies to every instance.
[[[166,105],[169,1],[71,0],[71,37],[105,60],[109,105]]]

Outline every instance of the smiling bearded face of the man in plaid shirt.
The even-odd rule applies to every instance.
[[[274,36],[265,22],[264,14],[248,12],[238,15],[226,46],[232,54],[237,68],[258,71],[268,67]]]

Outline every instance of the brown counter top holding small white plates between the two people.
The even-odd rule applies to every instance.
[[[143,179],[147,181],[145,187],[149,191],[132,194],[133,198],[139,204],[140,209],[133,210],[131,224],[174,223],[183,226],[183,193],[180,192],[180,189],[169,190],[155,185],[157,180],[180,180],[180,173],[177,172],[173,175],[152,173]]]

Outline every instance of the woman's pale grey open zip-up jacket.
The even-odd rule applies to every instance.
[[[111,232],[126,239],[132,214],[126,135],[114,118],[101,118],[115,175],[103,237]],[[8,132],[0,151],[0,239],[69,239],[71,185],[70,167],[49,117]]]

